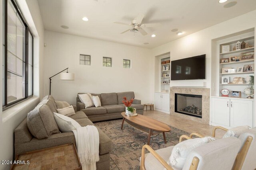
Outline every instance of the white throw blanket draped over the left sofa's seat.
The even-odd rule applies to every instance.
[[[73,130],[76,147],[83,170],[96,170],[99,158],[99,132],[95,126],[87,125]]]

